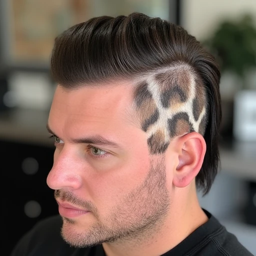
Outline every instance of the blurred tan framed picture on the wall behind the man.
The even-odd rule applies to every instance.
[[[46,64],[57,34],[88,16],[88,0],[1,0],[1,51],[9,65]]]

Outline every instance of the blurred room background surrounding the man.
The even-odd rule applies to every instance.
[[[54,38],[98,15],[143,12],[180,24],[221,68],[221,169],[201,206],[256,255],[255,0],[0,0],[0,152],[3,244],[57,214],[46,185],[53,141],[45,128],[55,88]],[[9,250],[9,251],[8,251]]]

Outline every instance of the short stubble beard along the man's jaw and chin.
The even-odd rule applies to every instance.
[[[88,230],[78,232],[75,226],[70,226],[75,224],[75,220],[62,217],[63,239],[74,247],[91,247],[104,242],[117,243],[132,239],[139,241],[157,232],[168,214],[171,203],[163,162],[152,162],[143,183],[112,208],[111,216],[103,221],[96,213],[96,208],[87,205],[96,218]],[[70,201],[75,202],[74,199]]]

